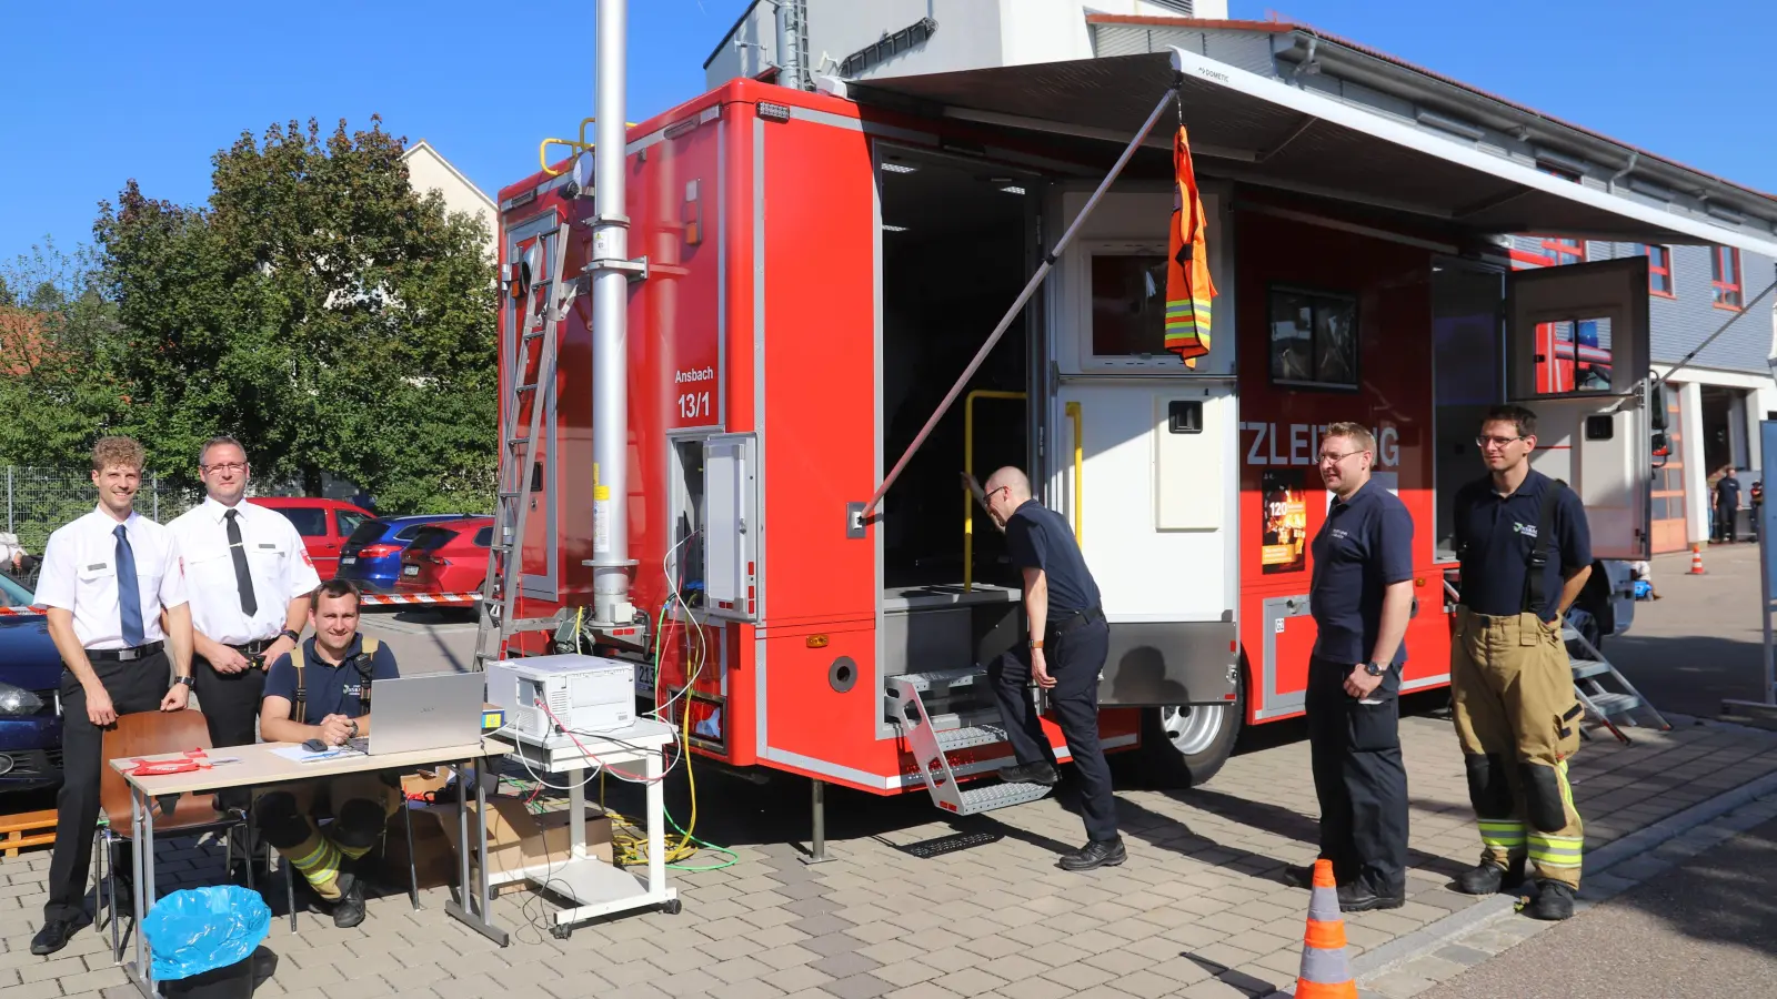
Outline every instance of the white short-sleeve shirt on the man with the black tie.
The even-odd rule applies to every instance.
[[[258,604],[252,617],[247,617],[240,608],[235,553],[227,540],[229,508],[206,498],[167,524],[185,556],[192,626],[224,645],[277,638],[284,629],[290,601],[320,587],[322,578],[290,517],[245,500],[236,503],[235,523],[240,524],[242,546],[247,549],[247,576]]]

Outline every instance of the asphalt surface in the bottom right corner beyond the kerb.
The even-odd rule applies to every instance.
[[[1740,834],[1416,999],[1777,992],[1777,821]]]

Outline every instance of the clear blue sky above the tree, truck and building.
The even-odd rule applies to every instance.
[[[704,59],[745,7],[631,0],[631,121],[697,96]],[[1752,53],[1777,28],[1770,0],[1230,7],[1235,18],[1276,9],[1777,192],[1777,82]],[[514,21],[524,27],[503,27]],[[592,114],[592,4],[7,4],[0,66],[12,84],[0,105],[0,260],[11,260],[46,235],[64,249],[89,242],[96,204],[128,178],[151,197],[203,201],[210,156],[274,121],[363,128],[375,112],[494,194],[537,167],[544,135]]]

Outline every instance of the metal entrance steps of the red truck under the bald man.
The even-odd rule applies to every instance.
[[[984,771],[988,764],[952,764],[949,754],[1006,741],[999,709],[981,704],[984,690],[986,670],[979,667],[887,679],[883,699],[888,720],[901,729],[919,761],[919,773],[933,803],[956,816],[1022,805],[1050,791],[1043,784],[990,782],[963,787],[958,782],[958,777]]]

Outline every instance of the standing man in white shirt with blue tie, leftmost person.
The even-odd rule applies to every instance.
[[[62,654],[62,791],[55,798],[50,901],[30,953],[53,955],[85,921],[87,867],[100,818],[103,729],[119,715],[183,711],[192,683],[192,615],[178,542],[133,510],[142,444],[92,448],[98,508],[57,528],[43,551],[37,603]],[[165,619],[165,620],[163,620]],[[167,661],[172,672],[167,672]],[[112,869],[128,869],[119,860]],[[117,887],[119,910],[133,898]]]

